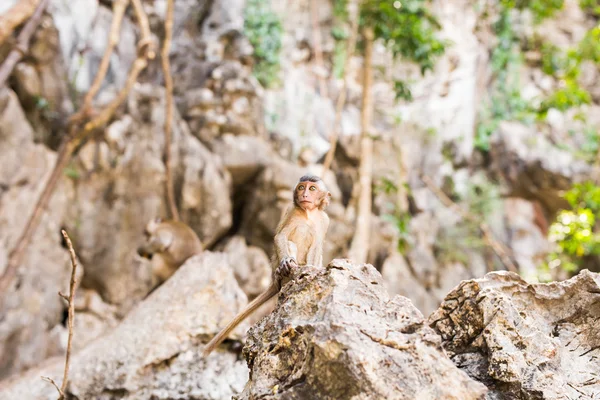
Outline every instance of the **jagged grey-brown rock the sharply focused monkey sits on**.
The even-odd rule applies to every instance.
[[[389,298],[370,265],[334,260],[282,288],[249,331],[242,399],[479,399],[405,297]],[[317,396],[317,397],[315,397]]]

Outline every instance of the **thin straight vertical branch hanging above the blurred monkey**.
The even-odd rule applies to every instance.
[[[173,78],[171,77],[171,65],[169,62],[169,48],[173,37],[173,0],[167,1],[167,15],[165,16],[165,41],[161,51],[163,75],[165,76],[165,172],[167,175],[167,203],[171,211],[171,217],[179,221],[179,212],[175,204],[175,191],[173,189],[173,172],[171,170],[171,124],[173,120]]]

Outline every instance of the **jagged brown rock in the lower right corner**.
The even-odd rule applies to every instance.
[[[514,273],[461,283],[429,317],[489,399],[593,398],[600,391],[600,275],[527,284]]]

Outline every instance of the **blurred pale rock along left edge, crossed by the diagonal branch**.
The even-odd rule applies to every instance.
[[[17,96],[0,88],[0,274],[56,158],[33,138]],[[2,293],[0,379],[37,365],[55,351],[48,331],[60,323],[65,308],[57,292],[68,292],[71,263],[61,247],[60,228],[72,193],[68,180],[61,180],[11,288]]]

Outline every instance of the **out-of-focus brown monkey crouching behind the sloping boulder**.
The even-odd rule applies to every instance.
[[[152,286],[163,283],[191,256],[202,252],[196,233],[180,221],[155,218],[144,229],[146,243],[137,253],[152,260]]]

